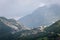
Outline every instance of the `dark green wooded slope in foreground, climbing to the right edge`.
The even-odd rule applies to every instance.
[[[60,40],[60,20],[35,35],[18,37],[17,40]]]

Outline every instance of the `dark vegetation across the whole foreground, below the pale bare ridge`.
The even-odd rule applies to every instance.
[[[32,34],[36,31],[22,30],[12,34],[11,27],[0,20],[0,40],[60,40],[60,20],[46,27],[43,32]]]

